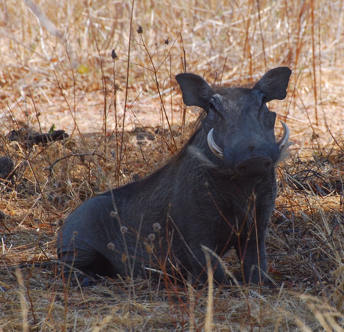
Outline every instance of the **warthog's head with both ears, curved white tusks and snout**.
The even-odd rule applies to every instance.
[[[186,105],[202,107],[202,120],[213,162],[244,178],[266,176],[286,147],[289,129],[276,142],[276,113],[266,103],[286,97],[291,70],[269,70],[253,87],[211,87],[195,74],[176,76]]]

